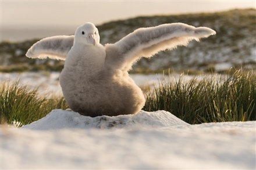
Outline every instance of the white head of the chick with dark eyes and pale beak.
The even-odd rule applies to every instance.
[[[74,33],[74,42],[85,45],[99,44],[99,32],[93,23],[86,23],[76,29]]]

